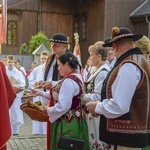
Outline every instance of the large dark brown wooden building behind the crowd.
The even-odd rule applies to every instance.
[[[139,26],[130,19],[130,14],[149,0],[7,1],[7,44],[1,45],[1,54],[18,54],[20,46],[28,45],[31,36],[39,31],[49,38],[54,33],[64,33],[72,43],[74,32],[78,32],[82,64],[85,64],[88,46],[110,36],[113,26],[128,27],[133,33],[148,35],[148,22],[142,20]]]

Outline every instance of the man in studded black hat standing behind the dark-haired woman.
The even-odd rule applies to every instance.
[[[59,80],[57,57],[60,54],[68,52],[67,47],[70,44],[67,41],[67,36],[62,33],[56,33],[50,39],[52,55],[47,59],[47,62],[43,66],[43,71],[39,74],[38,80],[35,86],[49,89],[51,81]],[[44,81],[44,82],[43,82]]]

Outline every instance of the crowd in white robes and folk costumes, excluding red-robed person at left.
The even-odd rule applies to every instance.
[[[47,150],[147,149],[150,40],[145,37],[113,27],[110,37],[88,47],[85,67],[67,49],[70,43],[62,33],[50,39],[52,54],[43,51],[41,65],[33,62],[27,73],[7,56],[6,74],[14,89],[18,85],[9,109],[12,133],[18,134],[23,124],[20,105],[27,79],[29,96],[49,116],[44,123],[32,121],[33,134],[47,134]]]

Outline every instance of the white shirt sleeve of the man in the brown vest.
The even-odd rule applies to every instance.
[[[112,99],[104,99],[96,105],[95,112],[106,118],[117,118],[129,112],[132,97],[141,79],[140,69],[132,64],[125,63],[111,87]]]

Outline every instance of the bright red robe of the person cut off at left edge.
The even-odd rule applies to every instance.
[[[9,108],[16,93],[6,74],[6,68],[0,61],[0,150],[6,149],[6,143],[11,137]]]

